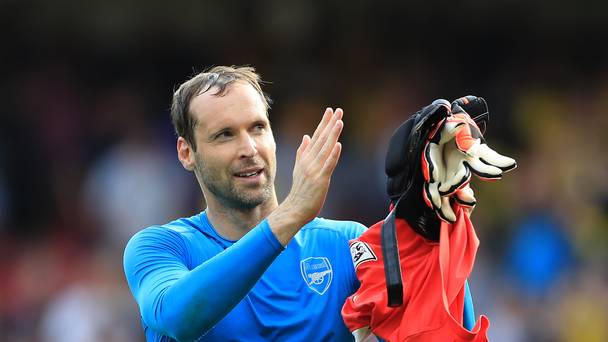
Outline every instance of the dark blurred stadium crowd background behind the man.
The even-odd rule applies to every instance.
[[[0,340],[142,338],[126,239],[204,204],[172,89],[250,64],[270,81],[278,191],[326,106],[344,152],[323,216],[386,212],[388,136],[475,94],[520,167],[474,182],[471,287],[493,341],[608,340],[608,2],[0,1]]]

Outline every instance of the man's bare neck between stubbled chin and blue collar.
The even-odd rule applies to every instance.
[[[222,237],[238,240],[257,226],[278,206],[276,196],[251,209],[230,208],[217,201],[207,202],[207,218]]]

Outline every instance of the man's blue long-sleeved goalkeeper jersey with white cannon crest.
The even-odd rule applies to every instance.
[[[351,341],[340,314],[359,286],[349,240],[316,218],[283,248],[262,221],[227,240],[202,212],[137,233],[124,268],[148,341]]]

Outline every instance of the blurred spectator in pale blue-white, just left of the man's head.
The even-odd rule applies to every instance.
[[[107,104],[102,108],[121,120],[114,127],[117,143],[86,176],[84,200],[88,213],[101,224],[104,238],[123,247],[135,232],[183,213],[197,190],[189,189],[193,183],[175,151],[163,144],[163,135],[146,120],[144,99],[137,92],[118,88],[101,100]]]

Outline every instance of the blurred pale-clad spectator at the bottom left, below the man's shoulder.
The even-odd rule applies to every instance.
[[[48,342],[129,342],[142,339],[137,310],[122,286],[116,257],[83,255],[79,279],[45,306],[40,336]]]

